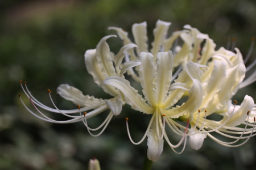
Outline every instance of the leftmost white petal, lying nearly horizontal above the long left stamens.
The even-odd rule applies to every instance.
[[[94,96],[83,95],[80,90],[69,86],[68,84],[60,84],[57,88],[57,94],[81,107],[96,105],[104,101],[102,99],[94,98]]]

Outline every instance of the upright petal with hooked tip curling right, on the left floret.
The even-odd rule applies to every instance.
[[[116,76],[115,68],[112,62],[112,58],[110,56],[109,45],[106,42],[110,37],[117,37],[116,35],[109,35],[103,37],[96,47],[96,57],[98,62],[102,63],[102,73],[106,74],[106,76]]]

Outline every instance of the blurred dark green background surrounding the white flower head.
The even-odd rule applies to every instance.
[[[150,117],[134,112],[129,106],[113,117],[100,137],[94,138],[82,122],[50,124],[32,116],[23,107],[18,94],[25,100],[19,80],[42,103],[52,107],[47,88],[61,109],[76,106],[56,95],[62,83],[79,88],[84,94],[102,99],[110,96],[98,88],[85,68],[84,53],[94,49],[103,36],[114,34],[108,27],[122,27],[131,36],[131,25],[147,21],[148,37],[156,20],[172,22],[169,35],[190,24],[209,34],[217,49],[226,46],[228,37],[237,37],[243,55],[256,34],[256,2],[233,1],[164,1],[164,0],[95,0],[95,1],[0,1],[0,169],[86,169],[90,158],[100,160],[101,169],[141,169],[147,140],[135,146],[127,137],[125,117],[129,116],[134,141],[139,141]],[[130,37],[133,39],[133,37]],[[108,40],[117,53],[122,41]],[[255,51],[249,61],[255,59]],[[134,82],[135,88],[139,88]],[[256,100],[255,83],[238,91],[234,97],[241,103],[246,94]],[[59,114],[47,113],[57,120]],[[97,127],[107,116],[91,118]],[[217,135],[218,137],[218,135]],[[171,142],[179,137],[170,135]],[[222,140],[229,141],[229,139]],[[164,143],[164,151],[152,169],[256,169],[256,137],[238,148],[227,148],[205,139],[200,150],[187,148],[176,155]],[[179,148],[181,150],[181,148]]]

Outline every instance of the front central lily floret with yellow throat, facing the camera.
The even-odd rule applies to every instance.
[[[133,142],[131,139],[127,124],[129,138],[135,145],[138,145],[144,138],[148,137],[147,156],[148,159],[152,161],[158,160],[163,151],[163,137],[172,150],[174,150],[174,148],[179,147],[184,140],[187,140],[187,135],[191,134],[185,133],[188,127],[184,128],[180,126],[185,129],[184,132],[174,130],[177,129],[177,123],[171,118],[177,118],[187,113],[193,114],[200,107],[203,100],[200,67],[205,67],[197,63],[188,62],[185,69],[180,73],[180,76],[175,80],[175,83],[170,86],[174,61],[172,53],[171,51],[159,52],[156,57],[156,70],[154,66],[154,56],[151,53],[142,52],[139,57],[141,61],[139,76],[141,78],[143,95],[146,100],[143,99],[143,97],[138,94],[138,91],[130,86],[129,81],[124,78],[111,76],[104,80],[104,84],[111,85],[120,90],[123,96],[125,96],[125,102],[131,105],[133,109],[146,114],[152,114],[146,133],[138,143]],[[188,100],[180,106],[169,109],[181,98],[185,91],[188,92]],[[168,139],[166,131],[164,130],[165,122],[167,122],[175,133],[183,136],[177,145],[172,145]],[[184,148],[185,145],[181,152],[184,151]]]

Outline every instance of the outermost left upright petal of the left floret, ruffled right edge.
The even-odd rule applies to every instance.
[[[98,86],[100,86],[106,93],[117,96],[118,92],[114,87],[103,84],[105,78],[108,75],[102,73],[102,63],[98,62],[96,58],[96,49],[86,50],[85,54],[85,66],[90,75],[93,76],[93,80]]]

